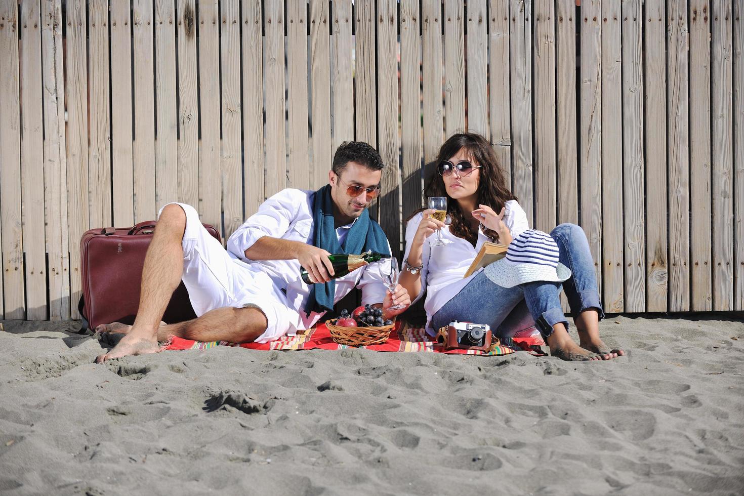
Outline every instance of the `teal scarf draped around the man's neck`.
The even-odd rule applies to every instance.
[[[341,246],[336,236],[336,223],[333,219],[333,199],[330,196],[330,184],[315,192],[312,203],[312,221],[315,227],[312,245],[323,248],[330,254],[361,254],[371,250],[390,257],[388,237],[382,232],[377,222],[370,219],[369,210],[365,208],[362,215],[351,226]],[[305,313],[326,312],[333,309],[336,297],[336,280],[327,283],[316,283],[310,288]]]

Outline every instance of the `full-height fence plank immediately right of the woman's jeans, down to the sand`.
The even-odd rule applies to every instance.
[[[623,311],[623,67],[620,0],[602,4],[602,301]]]

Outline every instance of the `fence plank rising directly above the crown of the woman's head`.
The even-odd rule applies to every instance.
[[[488,136],[486,0],[467,4],[467,129]]]

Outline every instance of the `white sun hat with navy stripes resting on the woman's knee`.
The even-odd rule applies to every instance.
[[[548,233],[527,229],[510,243],[507,255],[484,269],[486,277],[502,288],[533,281],[562,283],[571,270],[559,263],[558,245]]]

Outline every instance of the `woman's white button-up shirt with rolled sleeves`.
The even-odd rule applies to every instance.
[[[504,205],[504,224],[509,228],[512,237],[527,231],[530,228],[527,222],[525,210],[516,200],[510,200]],[[411,242],[413,242],[419,224],[423,219],[423,213],[417,213],[408,221],[405,228],[405,257],[408,258],[408,252],[411,251]],[[478,228],[478,242],[475,248],[469,241],[455,236],[449,231],[449,226],[442,228],[442,237],[451,241],[449,245],[432,246],[434,239],[437,239],[437,233],[429,236],[423,242],[421,249],[421,291],[412,298],[413,301],[419,300],[426,292],[426,301],[424,309],[426,310],[426,330],[429,334],[435,332],[431,329],[432,316],[441,309],[445,303],[458,294],[470,280],[483,269],[475,271],[470,277],[463,278],[468,267],[475,259],[475,255],[480,251],[484,242],[490,241],[481,228]],[[414,297],[411,294],[411,297]]]

